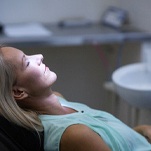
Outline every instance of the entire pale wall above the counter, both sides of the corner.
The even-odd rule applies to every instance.
[[[151,31],[150,0],[1,0],[0,22],[56,23],[72,17],[99,21],[108,6],[128,10],[132,25]]]

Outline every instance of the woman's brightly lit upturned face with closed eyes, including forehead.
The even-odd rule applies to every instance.
[[[3,47],[2,53],[16,67],[16,86],[24,88],[28,94],[39,95],[57,79],[56,74],[43,64],[41,54],[25,55],[12,47]]]

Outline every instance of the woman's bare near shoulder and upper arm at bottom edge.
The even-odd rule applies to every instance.
[[[60,151],[111,151],[101,137],[89,127],[76,124],[64,132]]]

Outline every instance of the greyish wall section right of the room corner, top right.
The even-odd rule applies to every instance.
[[[151,0],[119,0],[119,6],[128,10],[133,26],[151,31]]]

